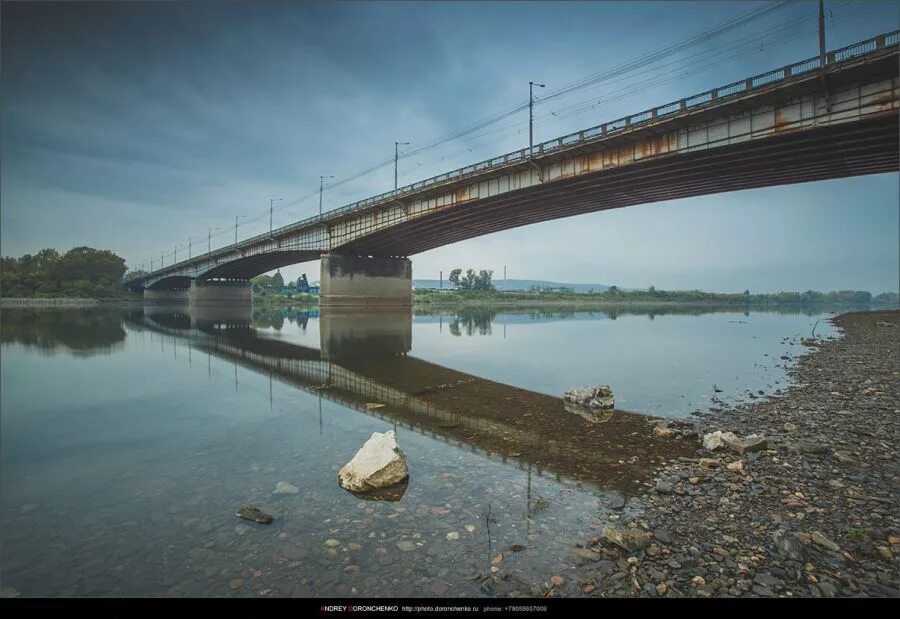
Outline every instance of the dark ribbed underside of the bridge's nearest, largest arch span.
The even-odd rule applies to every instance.
[[[594,211],[900,169],[896,112],[785,132],[767,140],[659,157],[603,174],[474,200],[410,219],[336,248],[341,254],[411,256],[443,245]]]

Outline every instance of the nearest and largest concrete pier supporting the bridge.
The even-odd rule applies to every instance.
[[[412,305],[412,262],[408,258],[322,256],[321,307],[407,307]]]

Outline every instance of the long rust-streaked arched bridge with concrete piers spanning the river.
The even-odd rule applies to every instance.
[[[320,304],[410,305],[409,256],[662,200],[897,171],[900,31],[419,181],[125,282],[250,303],[249,279],[322,259]]]

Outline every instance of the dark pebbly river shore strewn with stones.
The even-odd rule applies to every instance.
[[[832,320],[784,393],[660,422],[695,454],[600,510],[559,594],[900,597],[900,312]],[[703,448],[715,431],[767,442]]]

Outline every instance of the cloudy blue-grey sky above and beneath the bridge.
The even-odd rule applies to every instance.
[[[655,63],[540,100],[761,7]],[[900,28],[828,0],[829,49]],[[111,249],[166,263],[528,144],[816,56],[817,3],[3,2],[0,253]],[[358,176],[375,164],[373,172]],[[413,277],[730,292],[896,291],[898,174],[558,219],[412,257]],[[210,232],[210,228],[213,228]],[[209,237],[212,236],[210,241]],[[318,279],[318,261],[282,269]]]

